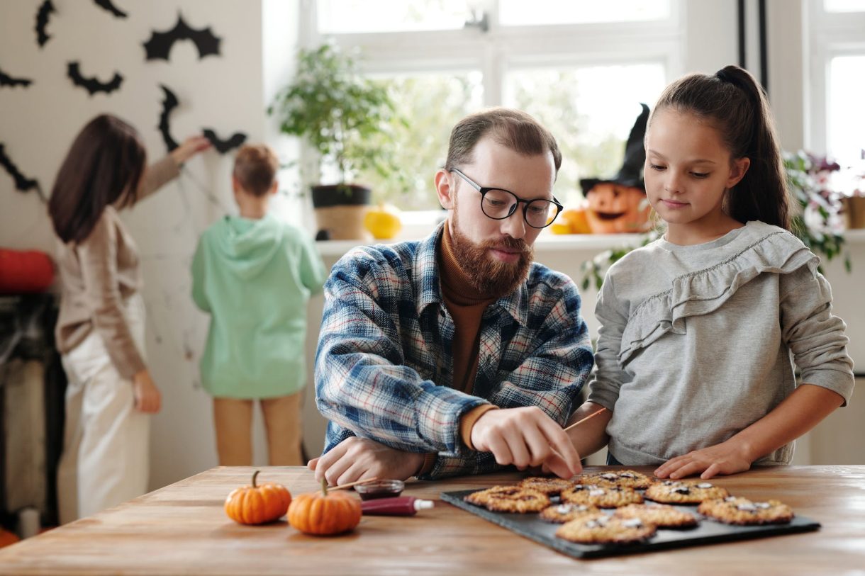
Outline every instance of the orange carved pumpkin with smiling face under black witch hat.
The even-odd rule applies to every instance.
[[[586,194],[589,227],[594,234],[645,232],[651,207],[643,189],[599,182]]]

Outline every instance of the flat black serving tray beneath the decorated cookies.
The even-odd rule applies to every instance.
[[[734,526],[714,522],[697,514],[696,505],[684,506],[674,505],[675,508],[683,509],[700,519],[695,528],[658,528],[657,534],[649,540],[637,544],[577,544],[556,538],[555,530],[561,524],[543,522],[537,514],[516,514],[509,512],[491,512],[481,506],[465,502],[463,498],[477,490],[459,490],[456,492],[442,492],[441,499],[478,515],[484,520],[498,524],[503,528],[516,532],[558,550],[562,554],[574,558],[599,558],[601,556],[614,556],[618,554],[637,554],[652,552],[655,550],[669,550],[670,548],[696,546],[701,544],[714,544],[715,542],[728,542],[736,540],[747,540],[750,538],[763,538],[765,536],[776,536],[780,534],[794,534],[797,532],[811,532],[820,528],[819,522],[810,518],[796,515],[788,524],[765,524],[762,526]],[[555,502],[555,499],[554,499]],[[609,510],[612,514],[612,510]]]

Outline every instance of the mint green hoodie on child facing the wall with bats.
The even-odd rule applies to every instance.
[[[210,314],[204,388],[245,399],[299,392],[306,302],[326,275],[313,241],[270,214],[226,216],[208,227],[192,261],[192,298]]]

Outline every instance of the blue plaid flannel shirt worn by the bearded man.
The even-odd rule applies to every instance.
[[[329,419],[324,451],[350,436],[402,451],[438,452],[425,476],[501,468],[469,450],[460,417],[483,404],[538,406],[565,423],[593,366],[580,295],[570,278],[533,264],[480,327],[471,394],[453,389],[453,319],[439,287],[443,227],[426,240],[360,246],[324,285],[316,353],[316,403]]]

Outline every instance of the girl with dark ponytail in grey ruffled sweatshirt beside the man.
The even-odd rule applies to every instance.
[[[585,455],[609,440],[608,464],[662,478],[789,464],[793,440],[849,400],[853,362],[819,260],[788,231],[766,96],[740,67],[685,76],[645,147],[666,234],[607,272],[597,373],[571,420],[607,410],[572,441]]]

